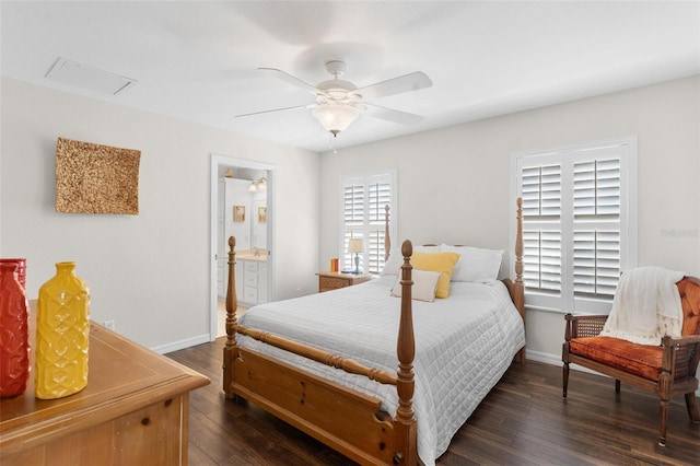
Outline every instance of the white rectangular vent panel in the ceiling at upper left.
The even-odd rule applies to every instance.
[[[48,70],[46,78],[112,95],[117,95],[138,82],[131,78],[98,70],[60,57]]]

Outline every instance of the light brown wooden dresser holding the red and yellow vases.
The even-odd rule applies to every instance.
[[[0,464],[186,465],[189,392],[209,378],[93,323],[89,358],[80,393],[36,399],[32,372],[0,399]]]

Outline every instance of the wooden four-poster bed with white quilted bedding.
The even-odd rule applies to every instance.
[[[413,246],[405,241],[400,286],[396,286],[401,289],[400,314],[396,312],[396,299],[386,291],[390,288],[386,288],[387,283],[396,278],[386,276],[330,293],[269,303],[259,312],[256,310],[261,306],[257,306],[246,312],[240,324],[235,313],[235,238],[231,237],[223,350],[226,397],[252,401],[361,464],[415,465],[421,458],[423,463],[434,462],[433,452],[446,448],[445,439],[448,443],[455,430],[454,426],[440,424],[443,411],[457,411],[450,422],[460,426],[513,357],[524,359],[521,209],[518,199],[515,280],[504,279],[491,286],[453,283],[454,291],[446,300],[412,300]],[[388,233],[388,212],[386,218]],[[335,295],[336,302],[329,303],[328,295]],[[486,307],[481,311],[482,301],[493,301],[489,307],[495,312]],[[451,303],[466,304],[455,311]],[[313,311],[319,306],[322,311]],[[307,308],[313,312],[305,313]],[[326,333],[314,327],[316,315],[322,313],[327,318],[323,324]],[[436,318],[438,315],[445,317]],[[475,329],[468,330],[471,334],[452,333],[453,327],[464,325]],[[384,327],[394,328],[393,331],[398,327],[398,337],[386,337]],[[489,343],[485,336],[498,341]],[[486,358],[482,353],[494,353],[499,359],[490,362],[481,359]],[[464,358],[479,361],[466,364]],[[415,364],[419,369],[416,374]],[[451,364],[455,366],[450,368]],[[466,365],[471,372],[463,376],[459,371]],[[493,370],[482,373],[483,365]],[[476,385],[475,395],[463,394],[468,389],[459,383],[471,382]],[[451,388],[453,383],[456,385]],[[429,396],[443,386],[457,393],[452,403],[462,409],[444,407]],[[440,422],[424,418],[438,418]]]

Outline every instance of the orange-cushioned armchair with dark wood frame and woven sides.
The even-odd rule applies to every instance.
[[[575,363],[615,378],[615,392],[620,381],[655,392],[661,401],[658,444],[666,444],[668,401],[684,394],[688,416],[700,422],[698,413],[698,378],[700,361],[700,280],[685,277],[676,283],[682,306],[680,338],[665,336],[661,346],[639,345],[623,339],[598,336],[607,315],[567,314],[567,330],[562,348],[563,397],[569,385],[569,364]]]

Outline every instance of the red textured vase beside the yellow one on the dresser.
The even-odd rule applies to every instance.
[[[28,303],[18,264],[0,261],[0,396],[22,395],[30,376]]]

